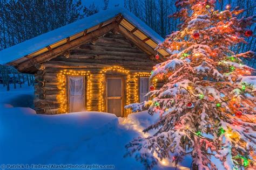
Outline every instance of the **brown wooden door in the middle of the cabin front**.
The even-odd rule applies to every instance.
[[[123,78],[108,77],[106,87],[106,106],[107,112],[120,117],[123,116],[124,95],[123,95]]]

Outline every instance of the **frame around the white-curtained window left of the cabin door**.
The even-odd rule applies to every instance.
[[[83,101],[83,103],[84,103],[84,111],[87,111],[87,93],[85,93],[85,91],[87,91],[87,79],[86,79],[86,76],[83,76],[83,75],[68,75],[67,76],[67,82],[68,83],[66,83],[67,84],[67,88],[66,89],[68,89],[68,90],[66,90],[66,93],[67,93],[67,95],[66,96],[68,96],[68,100],[67,100],[67,102],[68,102],[68,106],[69,106],[69,113],[71,113],[70,112],[70,87],[69,87],[69,77],[83,77],[83,98],[84,98],[84,101]]]

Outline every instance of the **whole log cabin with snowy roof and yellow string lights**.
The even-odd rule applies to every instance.
[[[37,114],[100,111],[126,117],[147,100],[164,39],[123,8],[105,10],[0,52],[1,63],[35,75]],[[158,55],[159,57],[155,58]]]

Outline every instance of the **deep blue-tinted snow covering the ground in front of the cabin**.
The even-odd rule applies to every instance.
[[[33,87],[6,91],[0,87],[1,164],[99,164],[115,169],[144,169],[133,157],[124,158],[125,145],[158,115],[146,111],[117,118],[102,112],[36,115],[30,108]],[[4,104],[5,103],[5,104]],[[187,159],[177,169],[189,169]],[[172,168],[170,168],[170,166]],[[167,160],[154,169],[175,169]]]

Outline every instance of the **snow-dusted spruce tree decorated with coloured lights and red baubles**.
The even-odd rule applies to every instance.
[[[242,58],[252,58],[254,52],[237,54],[232,49],[253,36],[248,27],[254,19],[238,18],[243,10],[230,6],[214,10],[214,4],[214,0],[176,2],[180,10],[170,17],[183,23],[157,47],[176,53],[156,65],[151,75],[164,85],[151,86],[147,94],[151,100],[126,106],[159,114],[159,120],[144,130],[156,133],[126,145],[127,154],[149,169],[158,159],[178,164],[187,155],[194,169],[217,169],[214,157],[223,169],[253,167],[256,77]]]

